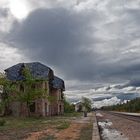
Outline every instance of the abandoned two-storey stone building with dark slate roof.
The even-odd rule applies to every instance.
[[[64,112],[64,94],[65,90],[64,81],[56,76],[51,68],[39,63],[19,63],[5,70],[7,79],[16,83],[18,91],[26,93],[25,85],[21,84],[24,80],[22,74],[23,67],[27,67],[30,70],[32,77],[36,80],[34,88],[44,89],[43,94],[54,97],[54,101],[50,101],[44,96],[33,100],[32,104],[27,108],[26,102],[13,101],[10,103],[9,108],[13,116],[28,116],[29,111],[33,116],[52,116],[63,114]],[[47,89],[47,90],[46,90]],[[45,93],[45,91],[47,93]]]

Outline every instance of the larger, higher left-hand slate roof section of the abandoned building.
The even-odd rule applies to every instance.
[[[36,79],[48,79],[49,73],[53,73],[51,68],[39,62],[19,63],[5,70],[7,78],[12,81],[24,80],[24,76],[22,75],[24,67],[29,68],[31,75]]]

